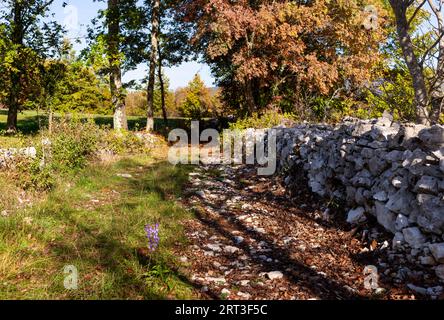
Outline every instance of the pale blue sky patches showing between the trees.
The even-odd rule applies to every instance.
[[[63,2],[68,6],[63,8]],[[91,20],[96,17],[97,11],[104,8],[106,2],[93,2],[92,0],[55,0],[52,5],[52,12],[55,13],[56,20],[65,26],[68,31],[67,37],[74,42],[75,39],[82,41],[82,44],[75,44],[76,51],[85,48],[85,36],[87,26]],[[136,70],[129,71],[123,76],[124,82],[130,80],[140,80],[147,75],[148,66],[140,65]],[[202,80],[209,87],[214,86],[214,78],[208,65],[189,62],[180,66],[167,68],[165,73],[170,81],[170,89],[175,90],[179,87],[185,87],[191,81],[196,73],[199,73]]]

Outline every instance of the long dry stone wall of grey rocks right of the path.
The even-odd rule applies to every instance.
[[[443,126],[400,124],[388,114],[302,124],[278,130],[277,155],[288,188],[303,168],[313,192],[347,204],[349,223],[374,216],[393,247],[417,250],[418,262],[444,279]]]

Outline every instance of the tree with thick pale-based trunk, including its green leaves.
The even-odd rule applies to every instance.
[[[109,77],[116,130],[128,128],[122,73],[145,59],[145,24],[137,0],[107,0],[107,9],[99,11],[89,28],[90,48],[83,55],[98,72]]]

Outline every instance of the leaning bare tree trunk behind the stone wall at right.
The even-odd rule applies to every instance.
[[[430,124],[428,106],[428,92],[425,84],[422,67],[413,49],[412,39],[409,35],[409,25],[407,20],[407,8],[409,1],[390,0],[396,17],[396,26],[407,67],[413,79],[413,88],[415,90],[416,118],[420,124]]]

